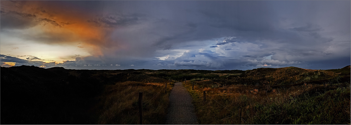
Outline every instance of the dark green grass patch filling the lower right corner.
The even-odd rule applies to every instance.
[[[350,84],[348,84],[350,85]],[[252,124],[350,124],[350,86],[254,106]]]

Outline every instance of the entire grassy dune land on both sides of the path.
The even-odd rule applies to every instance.
[[[139,92],[143,124],[164,124],[172,86],[184,79],[200,124],[239,124],[238,108],[241,124],[350,124],[351,117],[350,66],[246,71],[15,66],[0,71],[0,124],[139,124]]]

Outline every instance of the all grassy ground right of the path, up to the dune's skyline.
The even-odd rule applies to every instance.
[[[230,79],[255,83],[194,79],[184,86],[200,124],[239,124],[239,108],[241,124],[350,124],[350,66],[334,71],[263,68]]]

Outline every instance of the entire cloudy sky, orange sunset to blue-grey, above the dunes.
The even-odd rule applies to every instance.
[[[350,0],[0,1],[1,66],[252,70],[351,63]]]

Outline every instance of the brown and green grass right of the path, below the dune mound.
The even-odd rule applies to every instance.
[[[194,90],[193,82],[199,84]],[[239,107],[241,124],[350,124],[349,82],[271,88],[206,87],[187,81],[184,86],[193,97],[200,124],[239,124]],[[203,90],[207,93],[205,102]]]

